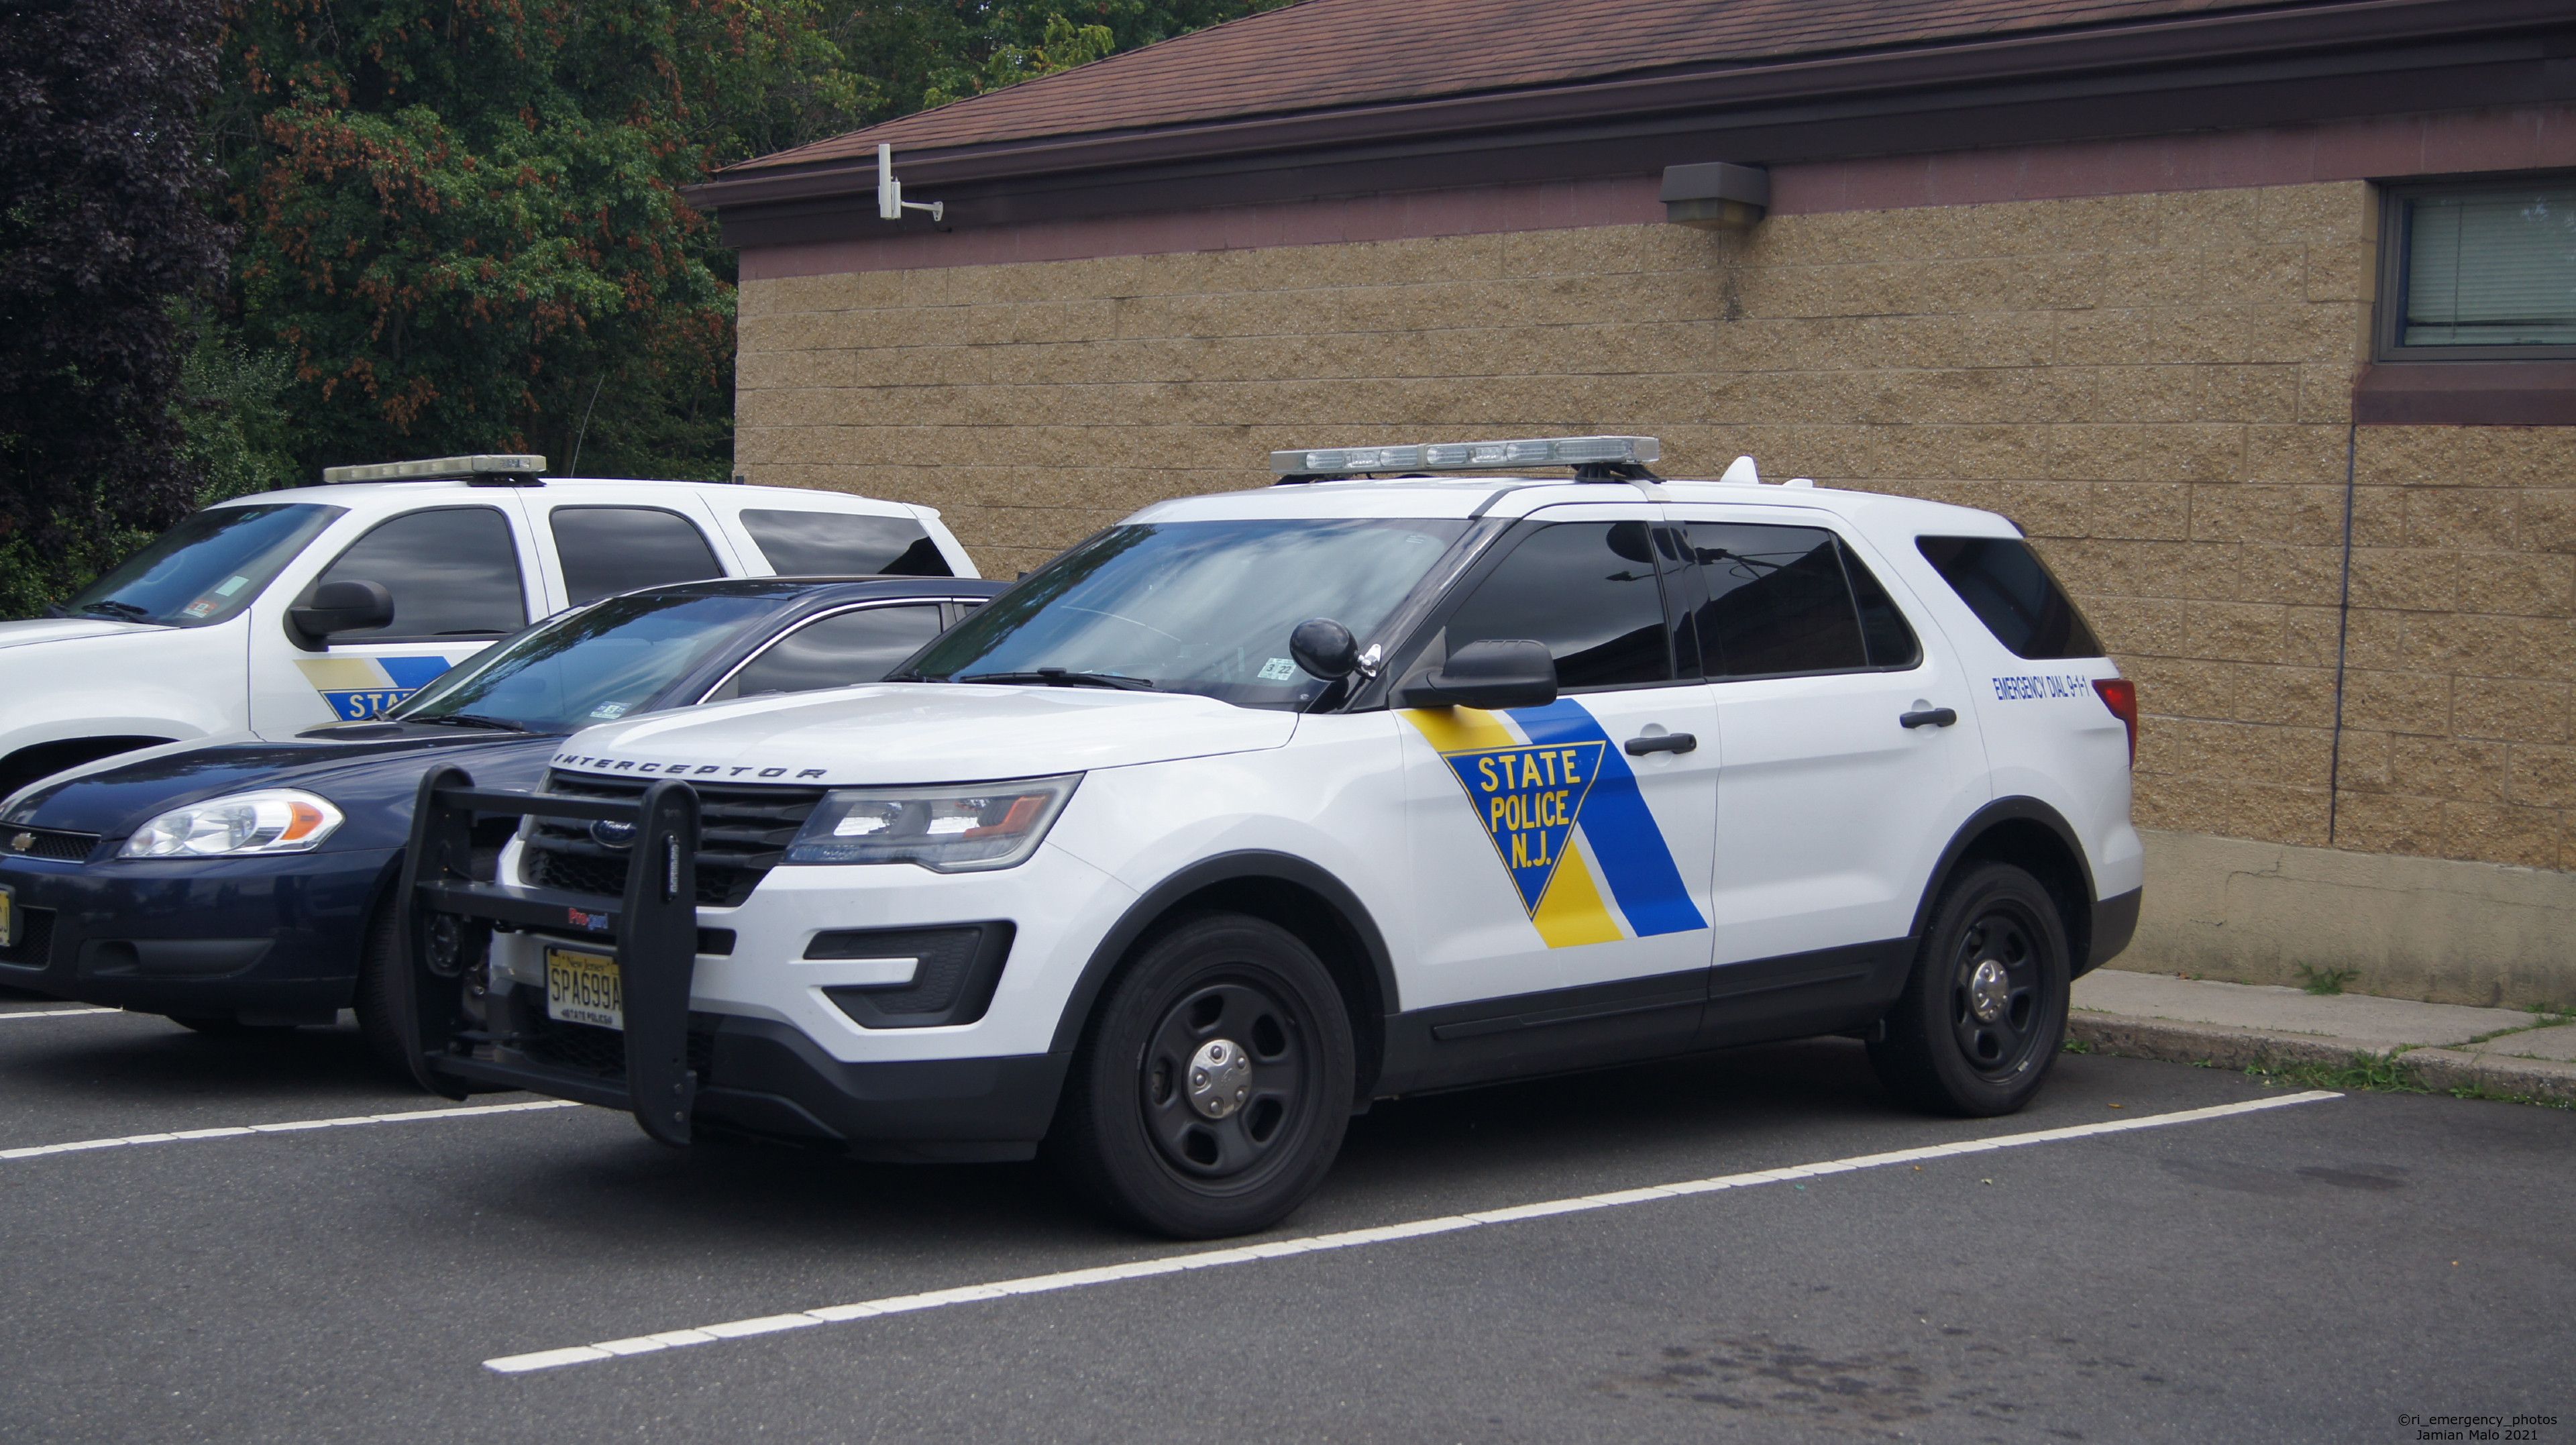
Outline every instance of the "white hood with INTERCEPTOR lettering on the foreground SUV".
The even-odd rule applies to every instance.
[[[971,783],[1280,747],[1296,713],[1190,693],[878,683],[572,734],[556,768],[706,783]]]

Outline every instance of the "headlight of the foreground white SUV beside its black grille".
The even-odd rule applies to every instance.
[[[840,788],[824,793],[786,860],[920,863],[933,873],[1010,868],[1038,850],[1079,780],[1082,773],[933,788]]]

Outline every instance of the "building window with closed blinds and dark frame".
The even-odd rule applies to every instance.
[[[2576,178],[2398,188],[2388,219],[2383,358],[2576,355]]]

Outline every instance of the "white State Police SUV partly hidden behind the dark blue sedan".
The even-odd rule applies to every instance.
[[[322,487],[185,518],[57,616],[0,623],[0,798],[157,742],[376,716],[492,639],[611,592],[976,574],[930,507],[544,469],[544,456],[332,466]]]

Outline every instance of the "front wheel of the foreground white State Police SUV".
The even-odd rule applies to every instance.
[[[1136,1229],[1249,1234],[1324,1182],[1352,1074],[1350,1015],[1314,950],[1255,917],[1195,917],[1092,1010],[1046,1154]]]

